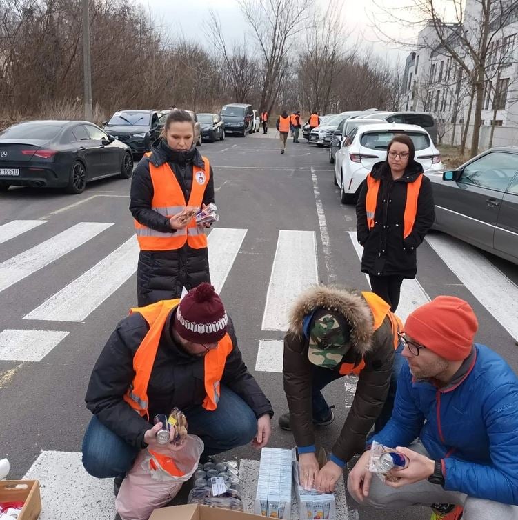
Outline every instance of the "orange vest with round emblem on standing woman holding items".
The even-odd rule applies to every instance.
[[[146,154],[150,155],[150,153]],[[149,173],[153,184],[153,198],[151,200],[151,209],[164,217],[172,217],[183,210],[186,206],[197,206],[201,208],[203,203],[203,194],[210,179],[210,163],[206,157],[203,157],[204,168],[192,166],[192,188],[190,190],[189,201],[186,198],[172,172],[168,163],[161,166],[155,166],[149,163]],[[147,226],[139,221],[135,223],[135,232],[141,250],[145,251],[166,251],[172,249],[180,249],[186,243],[193,249],[201,249],[207,247],[207,237],[203,228],[198,228],[196,220],[193,218],[186,228],[176,230],[176,232],[163,233]]]

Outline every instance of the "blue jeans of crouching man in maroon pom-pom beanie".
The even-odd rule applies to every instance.
[[[201,437],[205,444],[204,455],[243,446],[257,434],[252,408],[223,385],[216,410],[209,412],[202,406],[193,406],[184,413],[189,433]],[[83,438],[83,466],[93,477],[106,479],[126,474],[139,451],[92,417]]]

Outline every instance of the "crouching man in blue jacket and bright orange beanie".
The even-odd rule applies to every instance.
[[[499,354],[473,343],[477,328],[472,308],[455,297],[410,314],[392,417],[369,441],[409,463],[373,479],[367,446],[348,478],[358,502],[452,503],[464,506],[463,520],[518,519],[518,378]]]

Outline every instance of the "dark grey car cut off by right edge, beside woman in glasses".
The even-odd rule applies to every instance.
[[[518,148],[491,148],[429,177],[434,229],[518,264]]]

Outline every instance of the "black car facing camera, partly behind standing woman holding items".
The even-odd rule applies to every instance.
[[[165,121],[161,115],[160,110],[119,110],[103,123],[103,130],[126,143],[134,154],[144,154],[160,136]]]

